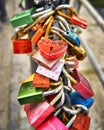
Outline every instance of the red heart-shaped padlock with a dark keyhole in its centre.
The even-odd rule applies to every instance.
[[[63,40],[53,41],[51,39],[42,38],[38,42],[38,47],[43,56],[47,59],[54,59],[62,56],[66,52],[68,45]]]

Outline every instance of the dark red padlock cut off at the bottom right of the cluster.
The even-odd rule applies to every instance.
[[[69,130],[89,130],[90,117],[88,114],[79,113]]]

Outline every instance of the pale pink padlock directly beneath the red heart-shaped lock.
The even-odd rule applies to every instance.
[[[53,66],[55,66],[55,64],[60,60],[60,57],[49,60],[44,57],[39,50],[37,50],[32,56],[32,60],[35,61],[37,64],[46,67],[47,69],[52,69]]]

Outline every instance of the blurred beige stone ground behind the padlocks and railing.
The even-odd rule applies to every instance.
[[[13,14],[22,11],[19,0],[6,0],[7,15],[10,19]],[[104,1],[89,0],[99,15],[104,18]],[[98,26],[85,6],[80,6],[79,16],[88,21],[88,28],[82,30],[81,36],[87,42],[98,66],[104,72],[104,30]],[[99,18],[96,18],[99,19]],[[104,20],[103,24],[104,25]],[[20,82],[31,74],[30,57],[28,55],[14,55],[12,52],[11,37],[14,28],[10,23],[0,21],[0,130],[32,130],[23,107],[17,101]],[[103,26],[104,29],[104,26]],[[88,56],[80,62],[79,71],[90,82],[95,93],[95,102],[90,109],[90,130],[104,130],[104,82],[95,71]],[[102,76],[104,79],[104,75]]]

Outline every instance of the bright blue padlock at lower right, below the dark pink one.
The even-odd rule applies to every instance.
[[[94,102],[93,98],[84,99],[76,91],[70,94],[70,99],[72,105],[81,104],[86,106],[87,108],[90,108]]]

